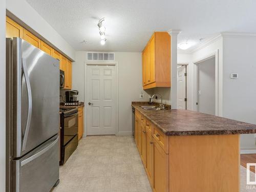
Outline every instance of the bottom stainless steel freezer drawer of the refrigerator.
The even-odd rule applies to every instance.
[[[56,135],[23,158],[12,161],[13,192],[51,190],[59,178],[58,139]]]

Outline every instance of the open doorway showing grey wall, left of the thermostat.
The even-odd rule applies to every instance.
[[[215,57],[197,63],[197,111],[216,114],[216,67]]]

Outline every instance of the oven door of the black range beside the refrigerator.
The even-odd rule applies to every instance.
[[[78,133],[78,112],[64,116],[64,139],[63,145],[66,145]]]

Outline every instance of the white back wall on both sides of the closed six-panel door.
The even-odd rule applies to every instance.
[[[76,62],[73,63],[72,88],[79,91],[78,99],[84,101],[84,71],[86,52],[76,52]],[[118,105],[119,105],[119,135],[132,133],[132,101],[148,101],[148,94],[142,87],[141,53],[115,52],[118,62]],[[144,94],[144,99],[139,95]],[[85,113],[86,114],[86,113]]]

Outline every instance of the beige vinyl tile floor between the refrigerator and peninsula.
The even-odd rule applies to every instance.
[[[246,188],[246,168],[240,168],[240,192],[256,191]],[[133,137],[82,138],[59,174],[52,192],[152,192]]]

